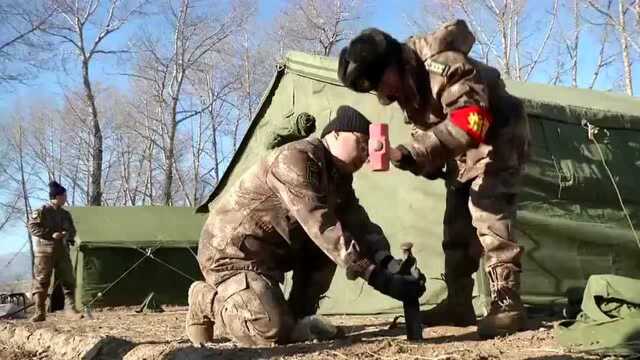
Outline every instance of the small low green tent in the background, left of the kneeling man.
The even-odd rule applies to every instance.
[[[186,304],[189,285],[201,278],[195,254],[205,216],[168,206],[70,211],[78,304],[136,305],[151,292],[162,304]]]

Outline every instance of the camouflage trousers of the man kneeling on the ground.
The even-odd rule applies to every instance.
[[[216,337],[243,346],[287,343],[297,320],[316,313],[333,280],[335,263],[316,249],[298,257],[288,299],[277,281],[253,271],[239,271],[215,286],[196,283],[189,294],[191,321],[211,319]]]

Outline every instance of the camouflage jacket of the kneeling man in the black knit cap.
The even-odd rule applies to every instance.
[[[313,241],[351,277],[368,277],[374,258],[389,253],[352,176],[337,171],[317,138],[275,149],[210,206],[198,260],[213,284],[239,270],[282,282],[295,257],[304,256],[303,241]]]

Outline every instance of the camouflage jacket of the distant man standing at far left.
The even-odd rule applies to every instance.
[[[73,240],[76,236],[76,228],[71,214],[63,209],[56,209],[51,204],[45,204],[41,208],[33,210],[27,224],[29,233],[36,238],[36,252],[49,253],[53,251],[56,243]],[[66,232],[64,239],[55,240],[53,234]]]

